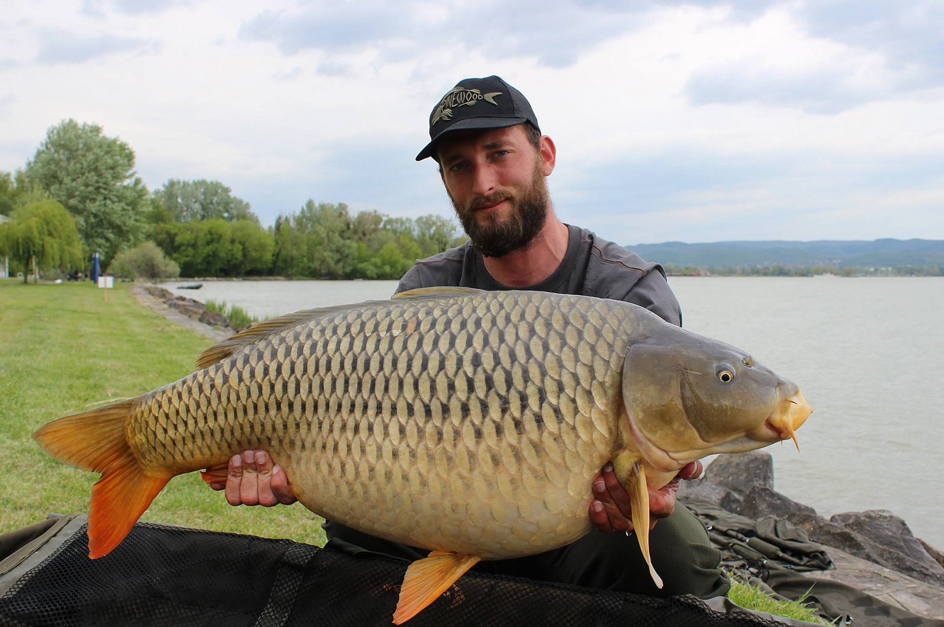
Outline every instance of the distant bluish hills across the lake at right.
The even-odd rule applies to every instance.
[[[627,248],[648,261],[700,268],[944,266],[942,239],[716,241],[696,244],[666,241]]]

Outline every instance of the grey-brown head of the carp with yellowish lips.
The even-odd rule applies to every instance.
[[[748,353],[669,325],[632,344],[622,388],[630,436],[664,470],[708,454],[796,443],[813,411],[795,383]]]

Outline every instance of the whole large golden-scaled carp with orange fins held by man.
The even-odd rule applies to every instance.
[[[397,623],[480,559],[586,534],[608,460],[661,585],[647,482],[794,437],[812,411],[747,353],[642,307],[535,291],[416,289],[301,311],[212,346],[197,368],[36,432],[57,459],[102,473],[90,556],[175,475],[265,449],[312,511],[433,550],[407,570]]]

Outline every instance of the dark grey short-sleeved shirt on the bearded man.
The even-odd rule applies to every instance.
[[[570,236],[564,261],[553,274],[526,288],[498,283],[485,269],[478,250],[464,243],[445,253],[416,262],[396,291],[438,286],[478,289],[534,289],[558,294],[582,294],[612,298],[640,305],[666,322],[682,325],[682,311],[666,283],[666,272],[657,263],[612,241],[598,238],[585,228],[567,225]]]

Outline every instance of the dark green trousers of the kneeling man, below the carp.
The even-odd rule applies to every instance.
[[[428,551],[368,536],[343,524],[324,524],[329,538],[337,537],[372,551],[409,560],[426,557]],[[595,587],[620,592],[667,597],[691,594],[700,599],[724,595],[730,586],[721,572],[721,553],[708,539],[701,521],[683,504],[659,520],[649,533],[652,564],[666,586],[658,589],[639,551],[634,534],[601,534],[596,529],[573,544],[528,557],[480,562],[474,569],[514,577]]]

